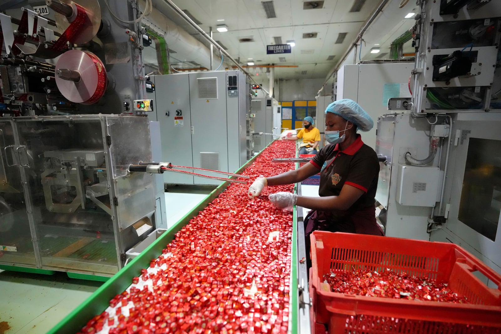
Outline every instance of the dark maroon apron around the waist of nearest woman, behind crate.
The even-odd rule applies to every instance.
[[[311,268],[310,235],[313,231],[347,232],[357,234],[383,235],[376,222],[376,207],[369,206],[357,211],[311,210],[305,218],[306,263]]]

